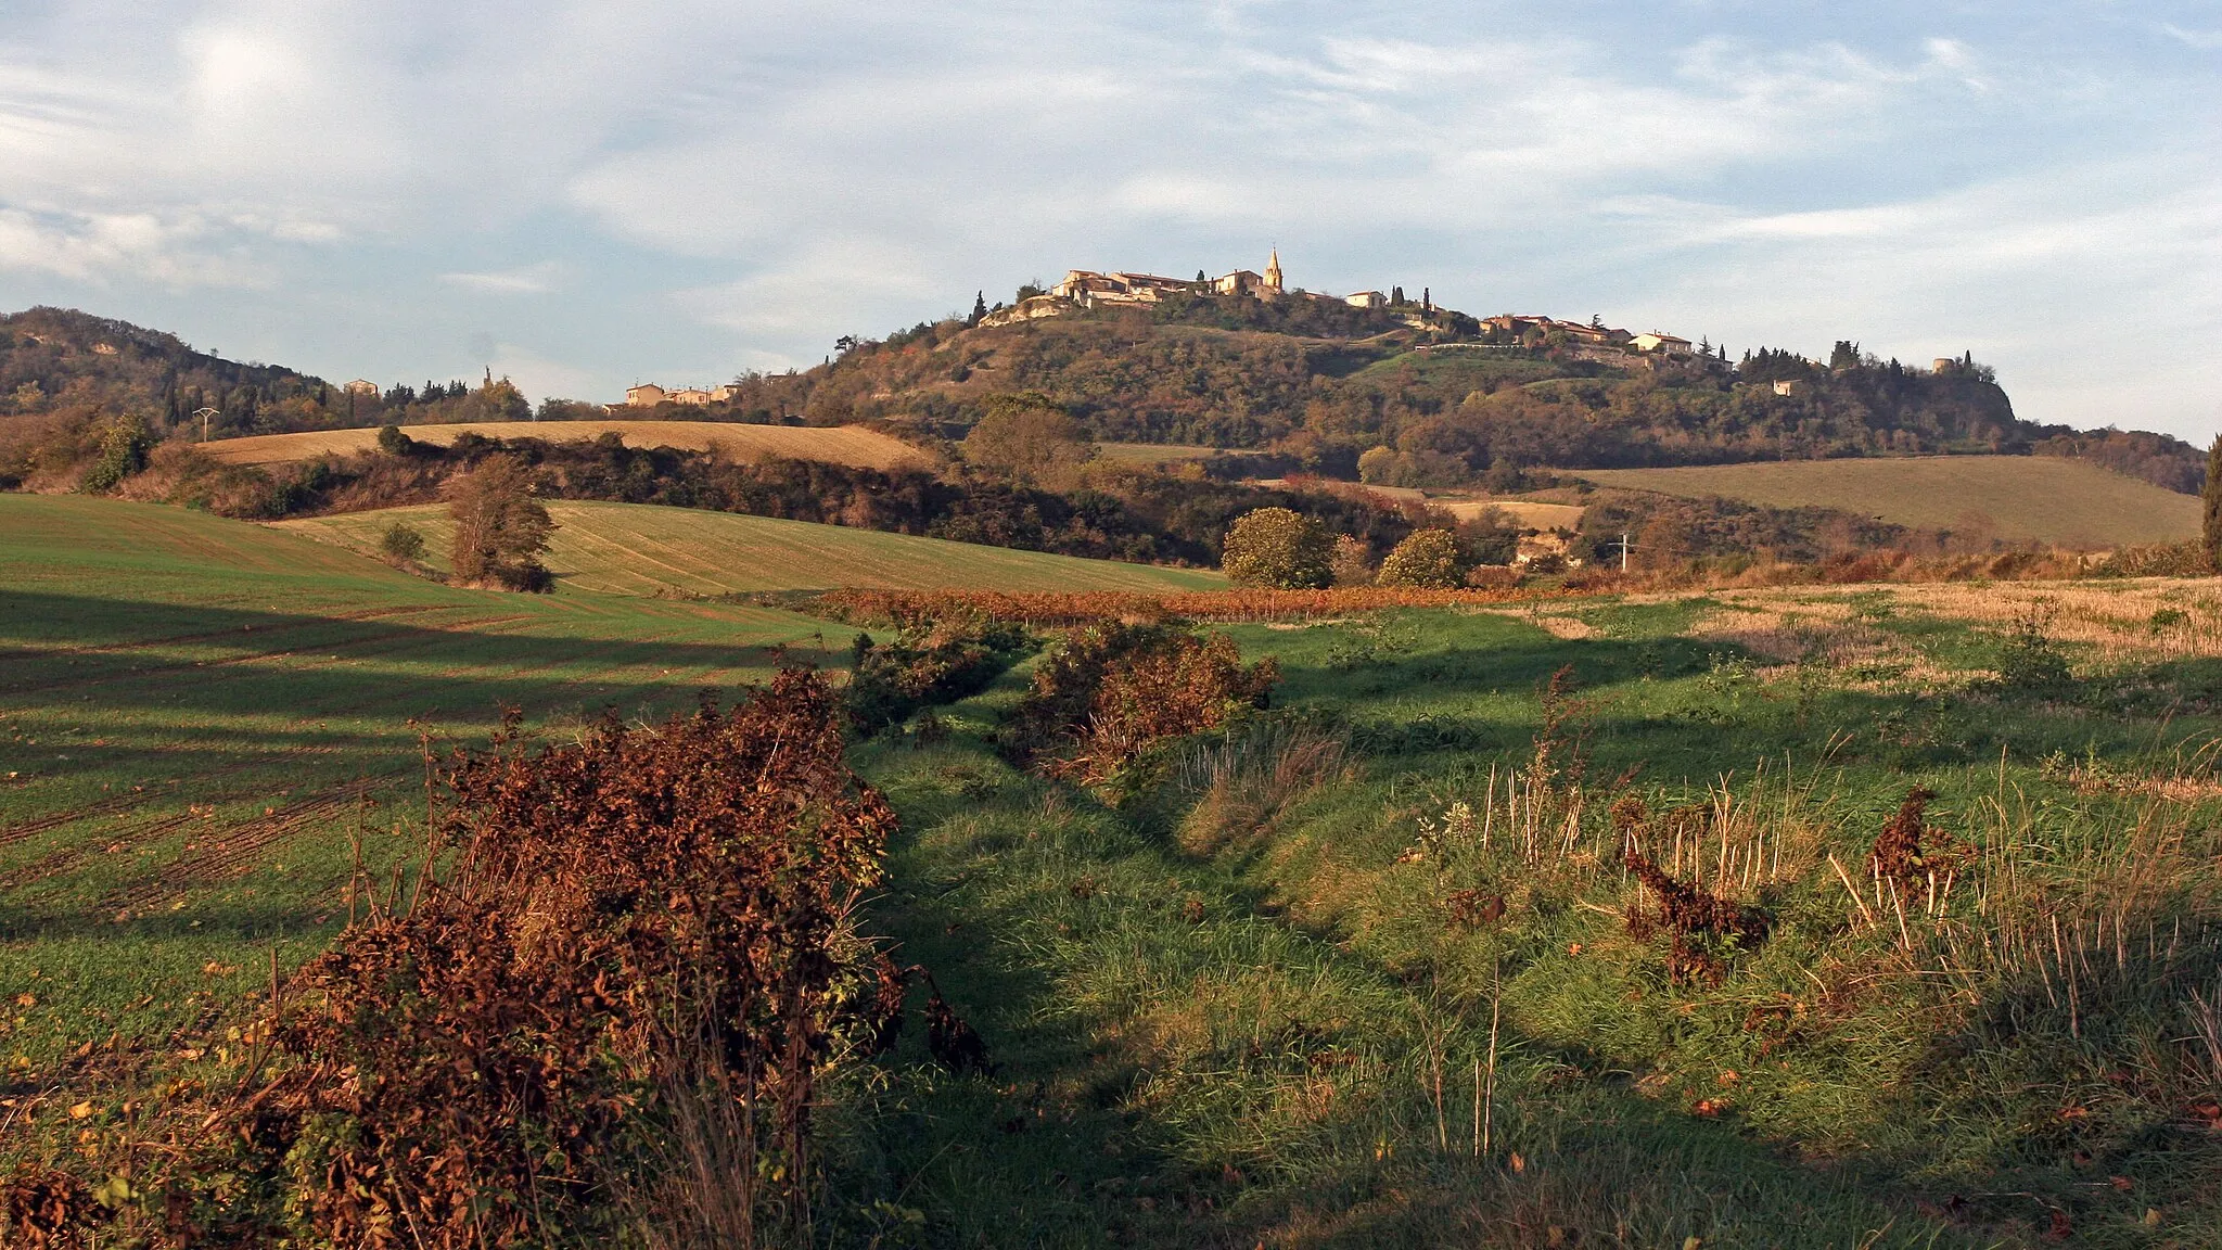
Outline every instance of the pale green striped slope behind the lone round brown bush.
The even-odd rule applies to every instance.
[[[844,529],[769,516],[553,500],[549,569],[567,587],[607,594],[729,594],[753,589],[1211,589],[1218,574],[1044,556],[978,543],[944,543],[875,529]],[[447,509],[391,507],[280,520],[311,538],[373,552],[396,520],[427,538],[427,558],[444,569],[453,529]]]

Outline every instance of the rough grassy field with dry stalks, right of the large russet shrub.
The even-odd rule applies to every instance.
[[[2069,685],[2024,672],[2031,618]],[[1235,734],[1049,785],[984,745],[1018,676],[864,752],[909,825],[880,923],[1000,1068],[907,1043],[853,1092],[858,1241],[2222,1241],[2222,587],[1231,634],[1340,761]],[[1909,896],[1869,850],[1918,785]],[[1769,914],[1718,981],[1631,932],[1620,798],[1678,881]]]

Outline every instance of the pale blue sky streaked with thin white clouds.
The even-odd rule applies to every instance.
[[[1064,269],[2222,429],[2222,0],[0,0],[0,309],[618,400]]]

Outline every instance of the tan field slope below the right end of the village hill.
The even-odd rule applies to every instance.
[[[2171,543],[2200,532],[2200,500],[2055,456],[1769,460],[1686,469],[1580,469],[1607,487],[1840,507],[1898,525],[2080,547]]]

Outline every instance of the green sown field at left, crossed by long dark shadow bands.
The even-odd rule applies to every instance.
[[[451,589],[173,507],[0,494],[0,1070],[200,1028],[416,856],[420,732],[664,716],[824,625]],[[835,634],[847,643],[849,632]],[[20,1021],[18,1021],[20,1016]],[[220,1039],[218,1039],[220,1041]]]

